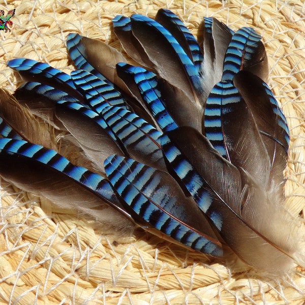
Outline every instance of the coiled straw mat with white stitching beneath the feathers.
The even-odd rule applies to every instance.
[[[116,14],[155,17],[159,8],[176,13],[193,34],[204,16],[232,29],[253,26],[269,59],[268,84],[288,120],[291,145],[286,170],[286,206],[305,208],[305,5],[291,1],[7,1],[16,8],[11,33],[0,33],[0,86],[13,91],[20,78],[6,67],[15,57],[73,70],[65,48],[76,32],[120,49],[111,31]],[[20,169],[22,170],[22,169]],[[130,237],[2,181],[0,205],[1,304],[302,304],[305,270],[287,279],[236,273],[225,262],[186,251],[136,230]],[[301,238],[301,236],[300,236]]]

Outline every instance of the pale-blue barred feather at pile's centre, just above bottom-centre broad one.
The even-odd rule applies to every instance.
[[[161,132],[135,113],[119,107],[105,107],[103,117],[130,157],[166,170],[161,150]]]

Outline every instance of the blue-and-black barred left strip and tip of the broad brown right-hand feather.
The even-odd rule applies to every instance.
[[[238,90],[231,82],[221,81],[211,90],[204,110],[204,132],[219,154],[228,159],[223,134],[223,114],[230,111],[230,105],[240,101]]]

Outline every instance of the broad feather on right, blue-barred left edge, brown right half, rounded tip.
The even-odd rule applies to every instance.
[[[204,128],[216,150],[266,189],[270,160],[255,118],[232,82],[216,84],[206,101]],[[240,136],[240,135],[247,135]]]

